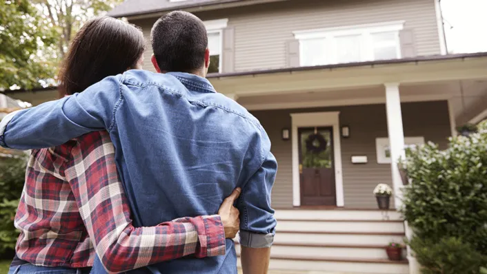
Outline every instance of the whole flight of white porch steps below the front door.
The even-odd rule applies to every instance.
[[[404,223],[396,211],[277,210],[275,217],[277,227],[269,268],[276,273],[409,271],[406,260],[392,262],[385,250],[389,242],[403,242],[405,236]]]

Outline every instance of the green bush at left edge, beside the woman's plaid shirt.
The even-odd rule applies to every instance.
[[[25,158],[0,158],[0,255],[11,253],[19,237],[19,231],[14,228],[14,216],[25,174]]]

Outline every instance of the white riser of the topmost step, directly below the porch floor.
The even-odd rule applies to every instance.
[[[277,220],[402,220],[397,211],[277,210]]]

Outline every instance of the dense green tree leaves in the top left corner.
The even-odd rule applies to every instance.
[[[0,90],[12,85],[32,89],[52,78],[54,67],[40,50],[55,38],[30,1],[0,0]]]

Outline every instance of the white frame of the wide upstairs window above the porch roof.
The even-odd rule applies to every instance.
[[[337,36],[352,36],[352,35],[360,35],[361,42],[365,42],[364,45],[361,45],[361,62],[366,61],[374,61],[373,55],[373,41],[372,41],[372,34],[375,33],[382,33],[382,32],[396,32],[396,43],[397,43],[397,58],[401,58],[401,43],[399,41],[399,31],[404,29],[405,21],[392,21],[392,22],[384,22],[384,23],[371,23],[371,24],[364,24],[364,25],[350,25],[344,27],[335,27],[335,28],[321,28],[321,29],[314,29],[314,30],[299,30],[292,32],[294,34],[295,39],[299,40],[299,62],[300,65],[304,65],[302,62],[304,61],[304,47],[301,46],[302,41],[306,41],[307,39],[326,39],[326,41],[331,41],[330,48],[336,51],[336,39]],[[329,43],[329,42],[328,42]],[[326,63],[326,65],[339,63],[336,60],[337,54],[331,54],[332,61]]]

